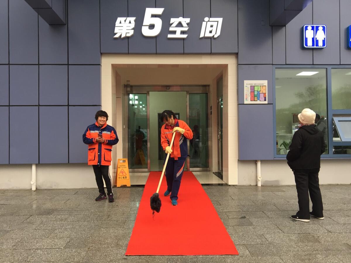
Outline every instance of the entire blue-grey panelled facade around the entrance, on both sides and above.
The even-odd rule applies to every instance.
[[[165,8],[163,29],[157,38],[141,34],[145,7]],[[81,135],[94,121],[94,112],[101,108],[100,53],[238,53],[239,127],[250,127],[247,114],[255,106],[240,106],[245,79],[267,79],[272,95],[274,64],[351,64],[351,50],[346,47],[350,8],[349,0],[314,0],[286,27],[272,28],[268,0],[69,0],[67,25],[48,26],[25,1],[0,0],[0,110],[8,113],[7,119],[2,116],[3,121],[10,120],[9,155],[2,153],[0,163],[40,162],[40,157],[43,162],[86,162]],[[205,16],[219,15],[225,18],[221,36],[199,39]],[[113,39],[118,16],[137,17],[132,38]],[[166,21],[171,16],[191,18],[186,40],[166,38]],[[301,27],[317,22],[327,25],[328,38],[335,41],[328,40],[323,50],[302,49]],[[260,106],[266,112],[261,120],[266,123],[273,118],[271,95],[269,104]],[[246,108],[250,109],[241,110]],[[23,124],[28,125],[25,139],[39,134],[50,114],[55,114],[60,123],[70,123],[67,131],[61,129],[60,134],[63,139],[66,133],[68,144],[60,145],[63,148],[57,154],[47,156],[47,149],[42,148],[47,143],[44,135],[22,144],[11,140]],[[60,126],[47,124],[52,126],[52,132]],[[272,133],[266,128],[258,132]],[[239,133],[239,156],[249,158],[246,151],[250,142],[240,136],[244,134]],[[255,157],[264,159],[259,154]]]

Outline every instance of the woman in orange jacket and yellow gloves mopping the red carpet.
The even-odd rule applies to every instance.
[[[171,195],[172,205],[177,205],[180,181],[183,176],[185,160],[188,156],[187,140],[192,139],[193,132],[184,121],[178,120],[171,110],[165,110],[161,114],[161,121],[165,123],[161,128],[161,146],[166,154],[171,154],[166,164],[167,190],[164,196]],[[176,133],[176,136],[174,137],[173,147],[171,147],[170,141],[173,133]]]

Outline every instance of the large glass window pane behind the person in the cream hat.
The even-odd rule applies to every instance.
[[[297,115],[304,108],[320,117],[316,124],[328,145],[326,69],[277,68],[275,88],[277,154],[289,151],[292,136],[299,128]]]

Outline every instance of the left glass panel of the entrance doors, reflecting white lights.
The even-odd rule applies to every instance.
[[[147,169],[146,94],[128,94],[128,164],[130,169]]]

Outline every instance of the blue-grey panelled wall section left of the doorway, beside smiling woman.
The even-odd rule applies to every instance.
[[[25,1],[0,0],[0,164],[87,162],[81,136],[101,108],[99,0],[68,3],[67,25],[49,26]],[[83,107],[69,117],[69,103]],[[69,141],[80,147],[71,158]]]

